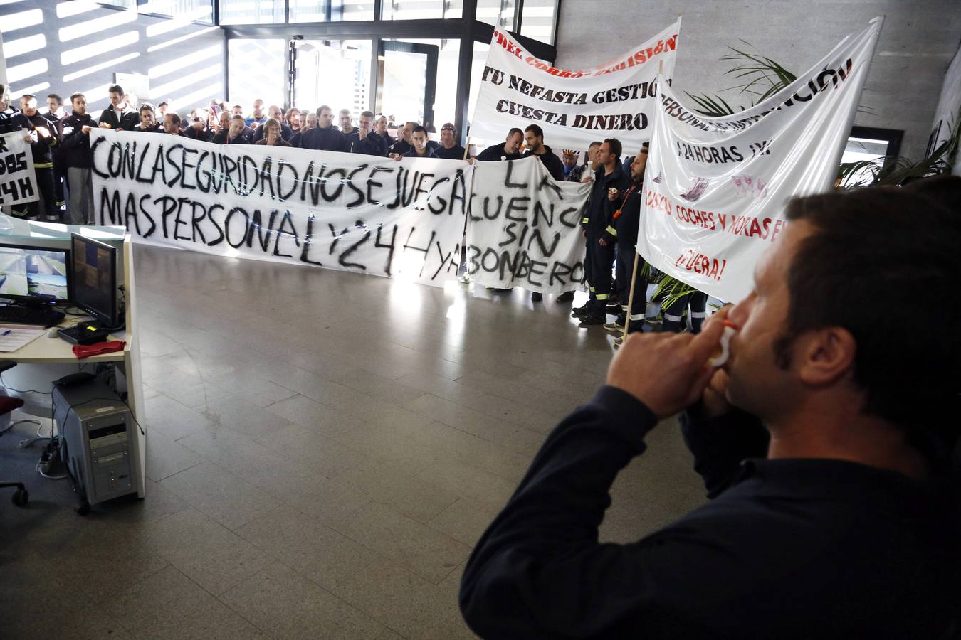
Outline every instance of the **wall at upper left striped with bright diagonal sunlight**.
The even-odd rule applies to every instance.
[[[149,76],[149,95],[182,114],[224,95],[225,38],[184,18],[139,15],[96,3],[14,0],[0,6],[0,31],[14,98],[80,91],[96,117],[109,104],[114,72]],[[124,87],[127,90],[128,87]]]

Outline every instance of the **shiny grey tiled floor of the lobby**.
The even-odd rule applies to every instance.
[[[604,379],[570,303],[136,248],[147,498],[71,509],[0,438],[0,636],[473,637],[456,592],[544,435]],[[602,538],[702,502],[677,425]]]

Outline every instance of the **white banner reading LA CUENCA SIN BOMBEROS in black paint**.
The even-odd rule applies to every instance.
[[[487,287],[583,289],[580,219],[590,193],[590,184],[555,181],[536,157],[476,163],[467,274]]]

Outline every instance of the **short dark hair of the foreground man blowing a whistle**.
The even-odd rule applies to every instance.
[[[872,187],[795,199],[786,218],[814,230],[788,267],[777,365],[790,366],[791,344],[805,331],[843,327],[857,345],[852,374],[864,392],[862,411],[952,446],[959,429],[949,416],[961,391],[961,216],[940,199]],[[914,314],[910,326],[877,313],[878,303],[905,294],[936,306]]]

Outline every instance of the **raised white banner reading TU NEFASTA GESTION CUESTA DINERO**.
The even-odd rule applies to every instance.
[[[583,70],[557,69],[504,32],[494,32],[470,135],[502,141],[512,127],[539,125],[554,149],[585,150],[616,137],[627,150],[651,138],[657,67],[674,77],[680,19],[623,56]],[[523,123],[523,124],[522,124]]]

